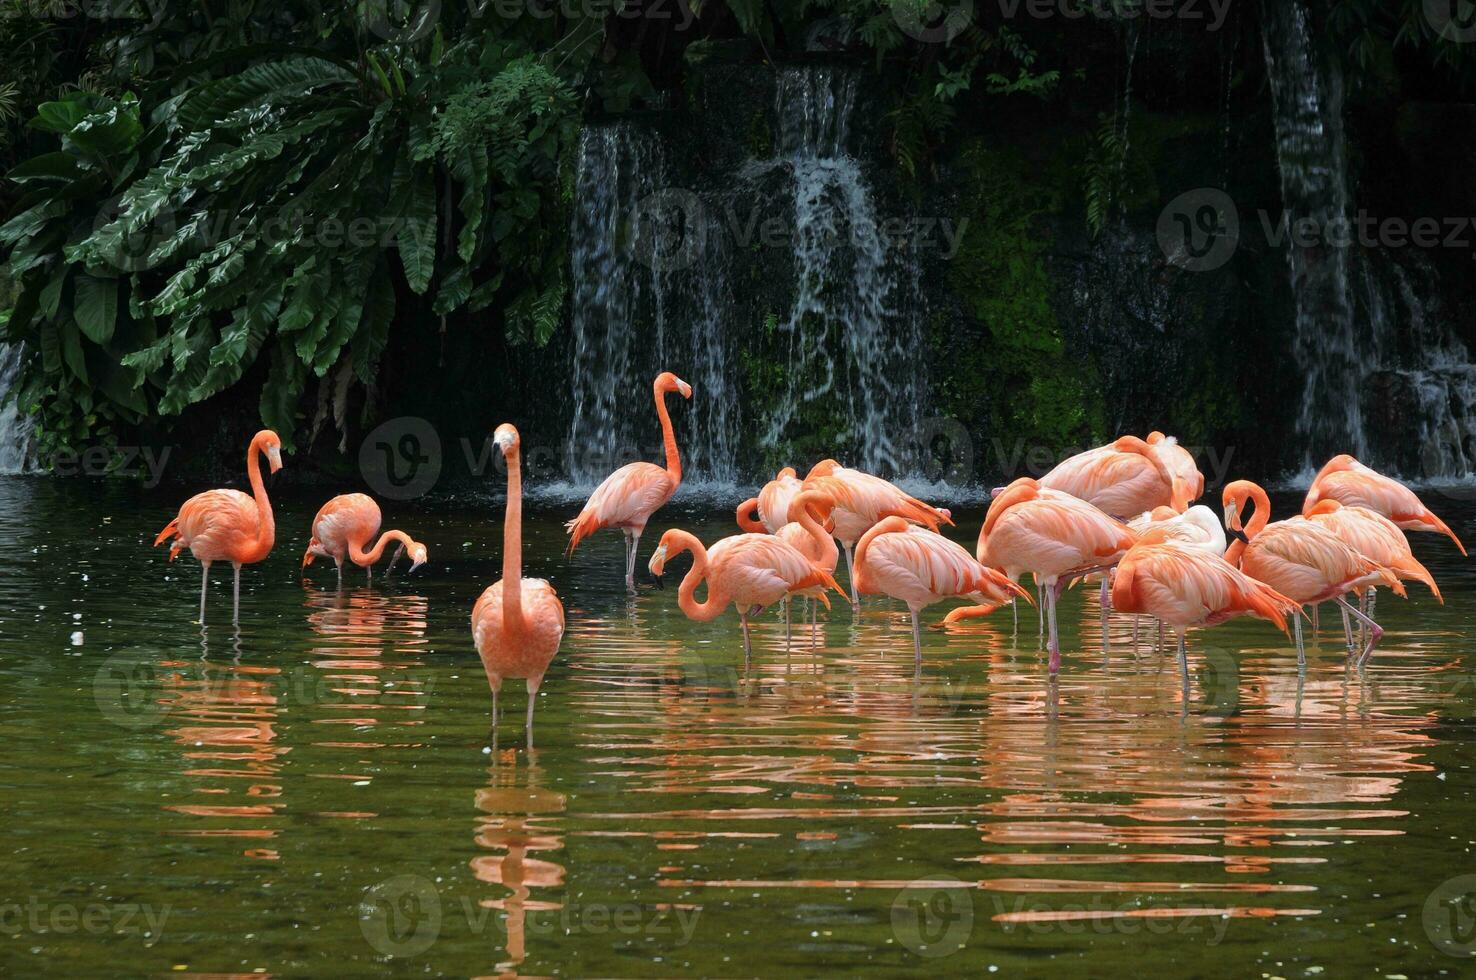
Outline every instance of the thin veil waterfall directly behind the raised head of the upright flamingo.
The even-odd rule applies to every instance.
[[[691,412],[673,412],[686,478],[732,483],[732,289],[706,207],[675,186],[658,136],[629,122],[584,128],[574,198],[571,480],[661,458],[651,381],[670,369],[694,387]]]

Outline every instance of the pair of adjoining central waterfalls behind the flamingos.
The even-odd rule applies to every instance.
[[[816,418],[835,432],[830,455],[911,471],[924,391],[920,269],[912,248],[881,233],[849,152],[858,81],[846,69],[778,72],[772,152],[722,174],[694,173],[670,118],[584,128],[570,220],[574,489],[660,459],[648,393],[663,368],[694,388],[673,412],[692,484],[766,478],[738,459],[742,434],[782,458]],[[770,220],[781,241],[753,238]],[[753,363],[772,369],[763,384],[778,393],[744,404],[739,378]]]

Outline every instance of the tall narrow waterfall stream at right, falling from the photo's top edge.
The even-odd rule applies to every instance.
[[[1287,244],[1296,301],[1293,353],[1306,385],[1296,429],[1309,468],[1342,452],[1365,456],[1359,350],[1349,300],[1343,80],[1318,56],[1303,0],[1262,3],[1266,74],[1281,171],[1283,229],[1311,218],[1318,242]]]

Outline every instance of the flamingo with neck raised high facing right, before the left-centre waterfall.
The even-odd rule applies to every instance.
[[[666,394],[682,393],[692,397],[692,385],[670,370],[663,370],[652,382],[655,413],[661,419],[661,441],[666,446],[666,469],[655,463],[626,463],[605,477],[605,481],[589,494],[589,502],[568,528],[568,553],[579,543],[602,527],[618,527],[626,536],[626,592],[636,590],[636,549],[641,546],[641,531],[651,515],[661,509],[682,484],[682,459],[676,453],[676,435],[672,432],[672,416],[666,410]]]

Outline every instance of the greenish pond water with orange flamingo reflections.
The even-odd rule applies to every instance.
[[[285,491],[238,630],[229,570],[201,629],[198,565],[149,548],[184,496],[0,480],[0,973],[1429,976],[1476,950],[1476,565],[1444,539],[1413,536],[1446,604],[1382,596],[1367,672],[1333,615],[1305,677],[1232,621],[1191,636],[1185,703],[1080,589],[1055,686],[1033,610],[927,629],[915,679],[884,599],[790,649],[766,612],[745,667],[732,612],[688,621],[675,574],[627,598],[618,536],[570,561],[573,508],[530,508],[568,632],[536,747],[514,683],[493,748],[468,614],[500,505],[385,506],[430,564],[338,592],[298,573],[328,494]],[[1472,537],[1476,506],[1430,503]],[[642,561],[673,524],[732,533],[669,506]]]

